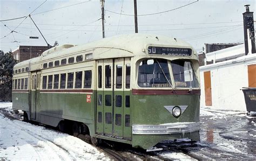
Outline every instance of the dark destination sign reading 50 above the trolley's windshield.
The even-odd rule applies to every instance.
[[[170,55],[176,57],[190,57],[192,55],[192,50],[190,48],[149,46],[147,48],[147,53],[156,55]]]

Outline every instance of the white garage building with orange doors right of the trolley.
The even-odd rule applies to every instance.
[[[256,53],[245,55],[242,44],[207,53],[206,60],[213,64],[200,67],[200,106],[246,111],[240,89],[256,87]]]

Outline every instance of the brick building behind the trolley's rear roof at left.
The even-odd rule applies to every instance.
[[[31,58],[39,57],[44,51],[48,50],[48,46],[19,46],[12,52],[14,59],[19,62]]]

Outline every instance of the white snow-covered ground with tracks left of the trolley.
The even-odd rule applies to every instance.
[[[11,103],[0,103],[11,110]],[[45,127],[10,120],[0,113],[0,159],[6,160],[110,160],[79,138]]]

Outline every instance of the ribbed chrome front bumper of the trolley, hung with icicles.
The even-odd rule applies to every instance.
[[[159,125],[132,125],[132,134],[138,135],[185,134],[199,130],[199,122],[177,122]]]

